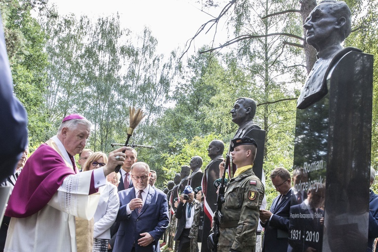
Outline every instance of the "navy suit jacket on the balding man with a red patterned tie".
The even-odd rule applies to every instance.
[[[120,210],[116,221],[120,221],[120,228],[117,232],[114,252],[130,252],[135,246],[135,252],[159,252],[159,239],[166,231],[168,218],[167,195],[162,191],[150,187],[142,211],[138,215],[137,211],[132,211],[130,215],[126,213],[126,205],[135,198],[134,187],[118,193],[120,197]],[[155,241],[146,247],[140,247],[139,234],[148,232]]]

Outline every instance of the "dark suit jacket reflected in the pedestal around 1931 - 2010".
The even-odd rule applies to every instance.
[[[302,252],[308,247],[316,249],[317,252],[322,251],[324,225],[320,224],[320,218],[324,217],[324,210],[318,209],[317,216],[312,218],[308,206],[302,202],[292,206],[290,213],[295,217],[289,219],[289,230],[293,231],[293,235],[289,235],[288,252]],[[317,238],[318,242],[316,242]]]

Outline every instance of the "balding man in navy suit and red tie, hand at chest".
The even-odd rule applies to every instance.
[[[114,252],[159,252],[159,239],[169,224],[167,195],[149,185],[150,167],[131,166],[134,187],[118,193],[120,221]]]

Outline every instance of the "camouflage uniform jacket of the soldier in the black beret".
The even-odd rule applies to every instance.
[[[224,222],[220,225],[218,246],[243,252],[254,251],[263,197],[264,185],[252,168],[230,180],[224,194]]]

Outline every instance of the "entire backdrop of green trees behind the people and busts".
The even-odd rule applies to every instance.
[[[157,53],[158,41],[150,29],[140,34],[122,29],[118,14],[92,21],[43,12],[41,29],[30,15],[35,3],[0,1],[14,92],[29,114],[32,150],[56,133],[64,116],[82,113],[93,123],[87,147],[109,152],[114,149],[111,143],[125,142],[128,106],[136,106],[146,117],[131,143],[155,147],[136,147],[138,160],[158,172],[157,184],[164,188],[191,157],[201,156],[204,167],[210,162],[206,149],[211,140],[223,140],[227,149],[237,129],[229,112],[238,97],[252,97],[258,104],[254,121],[266,130],[264,170],[270,205],[277,194],[270,171],[292,167],[295,97],[306,69],[302,48],[288,45],[301,43],[293,37],[303,34],[299,14],[262,17],[299,9],[299,1],[236,1],[230,30],[236,36],[260,37],[237,43],[223,54],[190,56],[178,65],[176,52]],[[377,166],[378,3],[347,3],[355,31],[345,45],[375,55],[372,165]],[[272,33],[293,36],[269,36]]]

